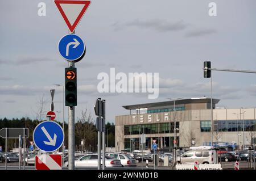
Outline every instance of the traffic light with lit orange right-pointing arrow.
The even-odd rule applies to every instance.
[[[65,68],[65,105],[77,106],[76,68]]]

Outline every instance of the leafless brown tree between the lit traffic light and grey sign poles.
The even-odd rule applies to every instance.
[[[80,141],[84,140],[85,149],[89,149],[89,145],[94,140],[96,128],[93,117],[87,109],[81,112],[81,117],[75,124],[75,132]]]

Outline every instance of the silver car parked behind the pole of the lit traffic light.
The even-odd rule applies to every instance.
[[[106,167],[122,167],[121,161],[119,159],[113,159],[108,155],[105,156],[105,165]],[[102,165],[102,155],[101,155],[101,165]],[[68,167],[68,163],[66,165]],[[77,159],[75,161],[76,168],[84,167],[97,167],[98,166],[98,155],[97,154],[88,154]]]

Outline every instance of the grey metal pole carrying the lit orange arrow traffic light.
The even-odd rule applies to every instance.
[[[69,62],[75,68],[75,62]],[[68,108],[68,169],[75,169],[75,106]]]

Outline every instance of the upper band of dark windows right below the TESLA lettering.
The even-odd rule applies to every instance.
[[[170,123],[143,124],[143,127],[144,134],[170,133]],[[125,135],[142,134],[143,127],[142,125],[125,125]],[[176,128],[179,128],[179,122],[176,122]],[[173,122],[171,122],[171,133],[174,133]]]

